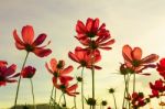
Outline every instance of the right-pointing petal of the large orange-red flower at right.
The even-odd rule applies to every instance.
[[[151,54],[144,58],[142,58],[141,63],[142,64],[147,64],[147,63],[153,63],[156,62],[158,59],[158,55],[156,54]]]

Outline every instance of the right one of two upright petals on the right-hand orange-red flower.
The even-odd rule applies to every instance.
[[[140,61],[142,58],[142,50],[140,47],[134,47],[131,55],[133,59]]]

